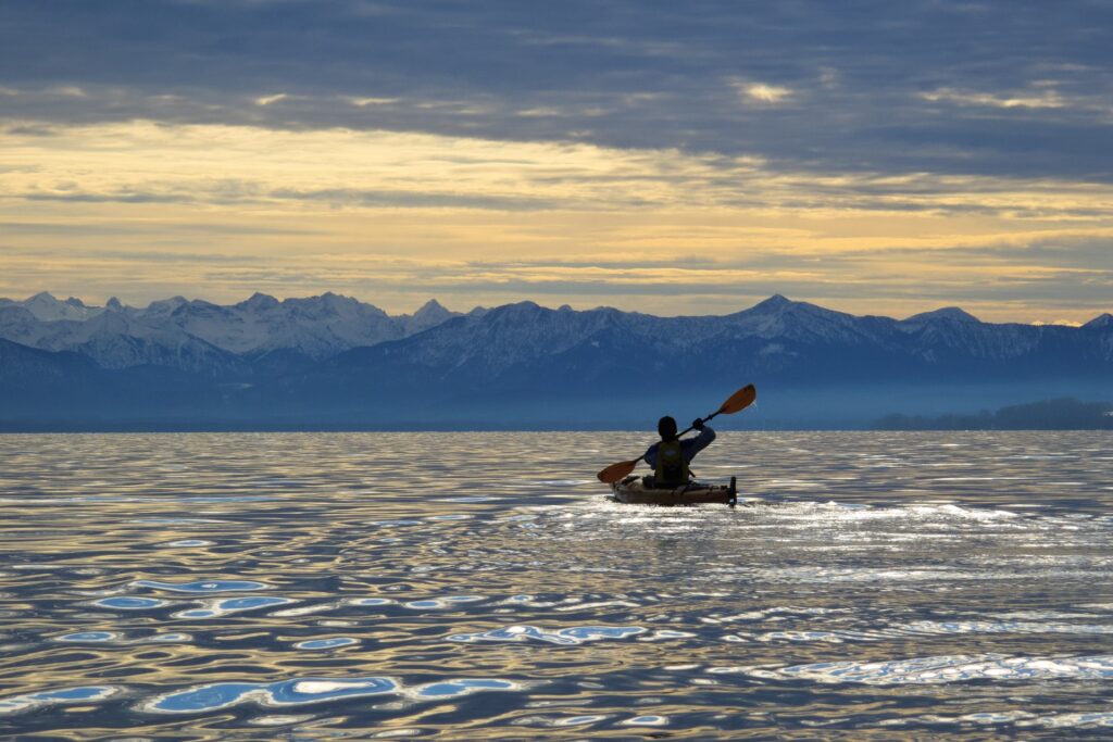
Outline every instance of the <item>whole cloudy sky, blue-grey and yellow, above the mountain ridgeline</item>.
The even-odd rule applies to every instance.
[[[1110,0],[4,0],[0,296],[1085,321],[1111,28]]]

